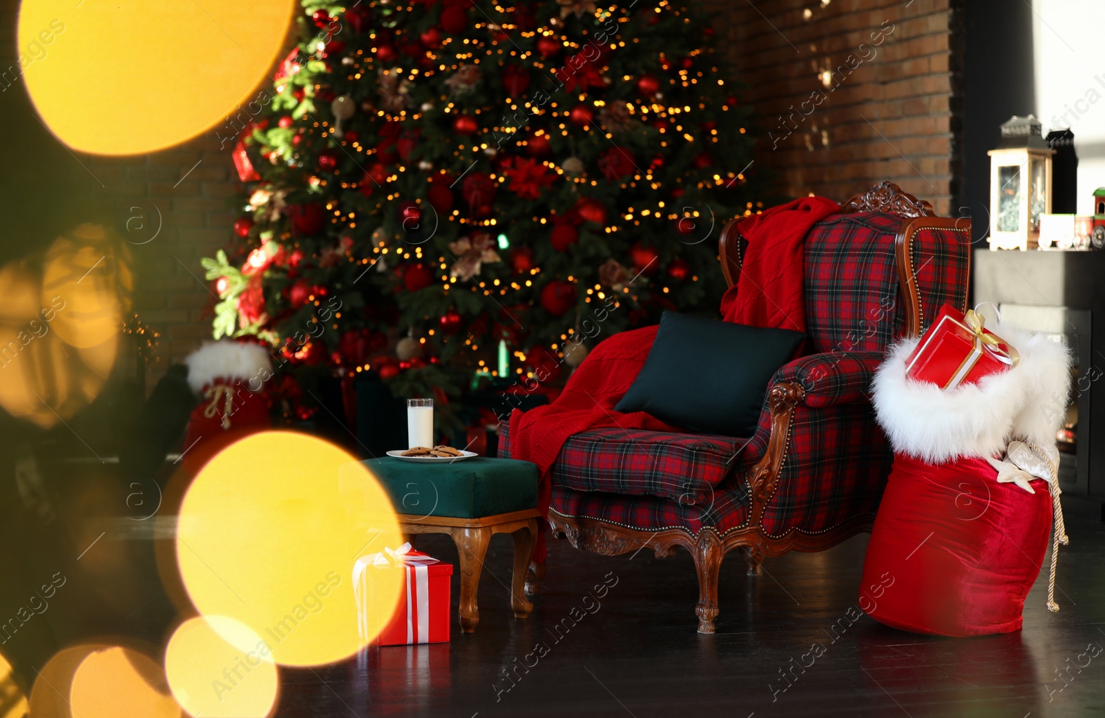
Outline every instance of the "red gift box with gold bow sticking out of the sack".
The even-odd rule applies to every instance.
[[[988,331],[982,315],[940,307],[936,321],[905,360],[905,376],[941,389],[977,383],[982,377],[1015,367],[1020,357],[1004,339]]]

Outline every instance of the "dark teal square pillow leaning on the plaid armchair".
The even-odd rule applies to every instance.
[[[633,386],[615,406],[706,434],[751,436],[771,376],[806,335],[665,312]]]

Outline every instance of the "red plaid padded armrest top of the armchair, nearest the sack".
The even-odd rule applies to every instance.
[[[804,392],[801,403],[811,409],[862,401],[866,399],[875,369],[883,359],[881,351],[810,355],[779,369],[771,378],[771,387],[797,383]],[[771,408],[770,401],[768,408]]]

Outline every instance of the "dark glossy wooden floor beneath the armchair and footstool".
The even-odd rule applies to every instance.
[[[534,614],[515,620],[505,588],[511,541],[501,537],[481,584],[476,633],[454,627],[449,644],[372,647],[326,669],[284,671],[278,715],[1101,717],[1105,652],[1081,673],[1067,668],[1080,654],[1086,662],[1087,645],[1105,648],[1105,527],[1072,517],[1069,531],[1062,611],[1044,608],[1044,574],[1023,631],[970,640],[903,633],[866,616],[848,626],[865,535],[771,560],[759,578],[730,556],[713,636],[695,632],[688,555],[609,558],[566,541],[552,543]],[[446,537],[423,537],[420,548],[456,560]],[[603,580],[617,583],[598,604],[585,600]],[[566,631],[573,606],[593,613]],[[823,654],[804,673],[791,671],[810,664],[814,643]],[[788,685],[780,669],[799,677]]]

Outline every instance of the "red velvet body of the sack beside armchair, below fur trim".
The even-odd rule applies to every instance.
[[[867,556],[860,608],[880,623],[947,636],[1021,627],[1051,534],[1051,495],[999,484],[980,458],[939,465],[894,457]]]

